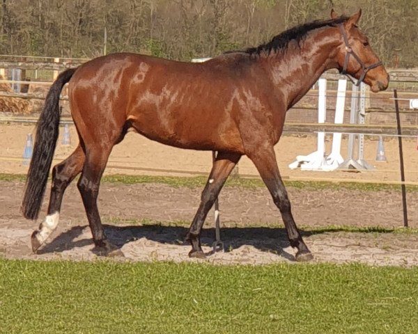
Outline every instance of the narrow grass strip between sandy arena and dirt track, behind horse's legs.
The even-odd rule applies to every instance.
[[[201,188],[206,184],[206,177],[166,177],[166,176],[148,176],[148,175],[106,175],[102,182],[111,184],[140,184],[140,183],[158,183],[167,184],[176,188]],[[0,173],[0,181],[25,182],[26,175]],[[359,191],[392,191],[401,189],[396,184],[374,184],[357,182],[318,182],[318,181],[289,181],[284,180],[288,187],[306,190],[323,189],[349,189]],[[261,179],[251,179],[245,177],[229,177],[225,186],[240,186],[245,189],[256,189],[265,187]],[[418,186],[406,186],[407,191],[418,191]]]

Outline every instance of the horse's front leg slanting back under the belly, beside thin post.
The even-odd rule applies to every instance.
[[[212,205],[215,203],[219,192],[224,186],[226,179],[231,174],[234,166],[240,160],[241,155],[237,153],[219,152],[213,163],[212,170],[206,182],[201,195],[201,203],[194,216],[192,225],[190,225],[186,240],[192,244],[192,250],[189,252],[189,257],[205,258],[201,248],[201,229],[205,222],[206,216]]]

